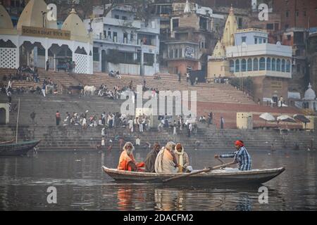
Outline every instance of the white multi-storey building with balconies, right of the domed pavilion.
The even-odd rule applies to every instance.
[[[108,7],[108,5],[106,5]],[[94,7],[92,20],[85,20],[94,39],[94,71],[154,75],[159,72],[159,18],[148,23],[135,20],[131,6],[116,6],[106,15]]]

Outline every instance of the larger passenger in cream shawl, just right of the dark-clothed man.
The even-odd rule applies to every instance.
[[[166,147],[162,148],[155,160],[155,172],[156,173],[177,173],[178,163],[174,154],[175,143],[172,141],[166,144]]]

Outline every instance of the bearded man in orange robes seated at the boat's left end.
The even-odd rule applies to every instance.
[[[118,170],[128,170],[135,172],[142,172],[142,167],[144,167],[144,162],[137,163],[135,157],[133,156],[133,151],[135,147],[131,142],[125,143],[123,146],[123,152],[119,158]]]

